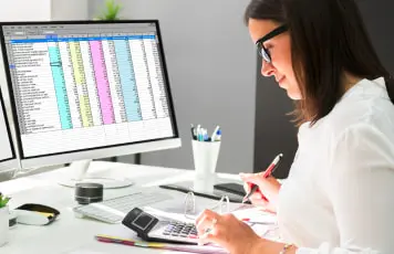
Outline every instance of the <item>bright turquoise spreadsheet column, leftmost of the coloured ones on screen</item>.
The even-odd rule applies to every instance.
[[[69,105],[68,91],[65,88],[64,73],[62,68],[62,61],[58,43],[53,42],[55,46],[49,46],[50,64],[52,70],[54,89],[56,94],[58,108],[62,129],[72,129],[71,112]]]

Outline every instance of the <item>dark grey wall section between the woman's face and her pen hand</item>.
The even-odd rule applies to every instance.
[[[255,170],[261,171],[278,154],[283,154],[274,176],[286,178],[297,150],[297,128],[288,115],[293,109],[291,99],[273,77],[261,75],[261,59],[257,61]]]

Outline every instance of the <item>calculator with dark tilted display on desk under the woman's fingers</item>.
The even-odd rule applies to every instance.
[[[149,242],[197,244],[198,235],[194,223],[176,220],[158,220],[138,208],[134,208],[123,219],[122,224],[135,231]]]

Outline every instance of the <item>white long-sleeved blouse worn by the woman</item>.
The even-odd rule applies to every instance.
[[[298,254],[394,253],[394,105],[384,78],[363,80],[314,126],[278,201],[278,223]]]

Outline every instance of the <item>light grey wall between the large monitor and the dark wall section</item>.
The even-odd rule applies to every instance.
[[[183,147],[142,162],[193,168],[190,124],[224,130],[218,171],[252,171],[256,52],[242,14],[248,0],[118,0],[121,15],[158,19]],[[90,17],[102,0],[91,0]],[[133,161],[132,157],[121,158]]]

